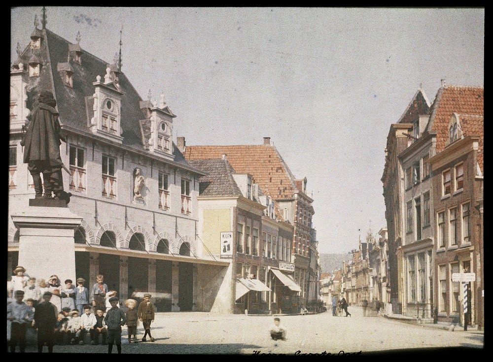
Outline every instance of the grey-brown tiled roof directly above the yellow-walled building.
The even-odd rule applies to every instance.
[[[228,163],[228,160],[190,160],[188,163],[203,171],[208,176],[199,177],[199,194],[201,196],[238,196],[242,192],[232,173],[235,169]]]

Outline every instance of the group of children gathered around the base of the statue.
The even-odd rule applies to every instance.
[[[119,308],[116,292],[108,291],[103,275],[97,276],[97,283],[89,293],[84,287],[83,278],[76,280],[76,288],[71,287],[70,279],[65,281],[65,288],[62,288],[56,275],[49,278],[48,286],[36,288],[35,278],[25,276],[25,271],[22,266],[16,267],[11,281],[15,301],[7,304],[7,320],[11,322],[10,352],[15,352],[17,344],[20,352],[25,351],[28,326],[37,329],[38,352],[42,352],[45,343],[48,352],[53,351],[54,344],[83,345],[84,337],[89,332],[91,344],[98,344],[102,335],[102,343],[108,344],[108,353],[111,353],[113,344],[121,353],[121,327],[127,326],[129,343],[137,343],[138,320],[145,330],[142,342],[146,341],[147,335],[151,342],[154,341],[150,332],[150,325],[154,322],[150,294],[144,295],[138,310],[137,301],[127,299],[127,310],[123,311]]]

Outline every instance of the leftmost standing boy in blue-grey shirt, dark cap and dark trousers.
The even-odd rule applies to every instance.
[[[19,350],[24,353],[26,349],[26,331],[28,324],[33,320],[33,309],[22,301],[24,291],[17,290],[14,293],[15,302],[7,305],[7,319],[12,322],[10,332],[10,352],[15,352],[19,343]]]

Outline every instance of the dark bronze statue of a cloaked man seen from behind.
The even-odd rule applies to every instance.
[[[21,145],[24,148],[24,163],[33,176],[35,197],[43,197],[40,173],[43,174],[44,197],[66,199],[69,202],[70,194],[64,192],[62,179],[62,159],[60,157],[60,140],[66,142],[60,134],[58,112],[55,110],[57,102],[53,94],[41,91],[37,105],[32,112],[31,122],[28,125]]]

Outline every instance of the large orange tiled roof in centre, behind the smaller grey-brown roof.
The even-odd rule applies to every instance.
[[[210,160],[227,155],[228,162],[238,173],[249,173],[272,198],[292,199],[298,190],[295,177],[273,145],[186,146],[187,160]]]

